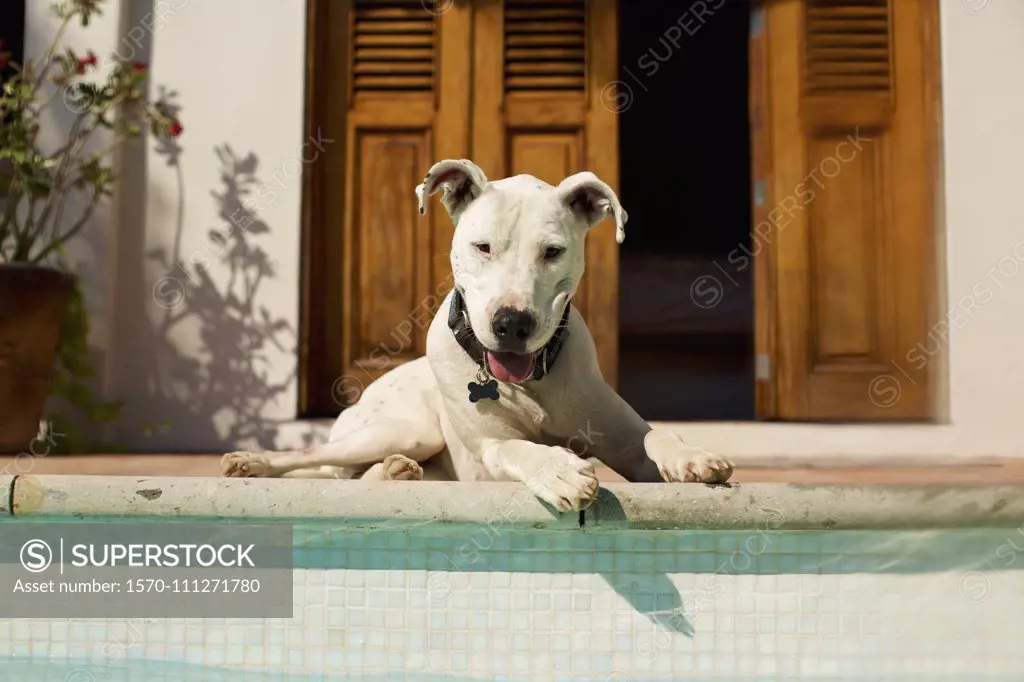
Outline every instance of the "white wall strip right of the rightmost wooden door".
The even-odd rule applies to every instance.
[[[1024,58],[1024,5],[944,0],[942,9],[950,307],[979,283],[994,292],[952,331],[952,423],[966,451],[1024,455],[1024,81],[1013,66]]]

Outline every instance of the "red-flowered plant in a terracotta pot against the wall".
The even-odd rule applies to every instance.
[[[147,101],[145,65],[112,59],[106,69],[92,51],[61,47],[67,27],[87,27],[100,4],[54,4],[59,28],[38,60],[15,63],[0,45],[0,454],[37,437],[53,390],[91,408],[90,419],[112,407],[83,395],[92,375],[88,317],[63,248],[112,196],[112,157],[125,140],[145,127],[182,132],[167,101]],[[71,124],[45,148],[39,133],[53,108],[66,108]],[[97,150],[98,131],[106,139]]]

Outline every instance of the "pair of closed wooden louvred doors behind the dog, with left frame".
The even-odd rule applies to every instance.
[[[437,197],[419,216],[413,195],[435,161],[617,187],[616,4],[308,2],[306,128],[336,141],[304,173],[300,413],[327,417],[426,350],[452,287],[451,221]],[[617,268],[606,221],[574,303],[612,384]]]

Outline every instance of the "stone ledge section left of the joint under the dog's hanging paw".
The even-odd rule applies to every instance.
[[[13,514],[580,527],[579,513],[559,514],[522,485],[443,481],[23,475],[14,481]]]

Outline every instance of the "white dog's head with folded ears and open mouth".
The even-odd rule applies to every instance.
[[[420,213],[438,191],[456,228],[455,286],[488,368],[499,380],[523,381],[580,285],[587,231],[611,216],[621,244],[626,211],[590,172],[557,187],[532,175],[492,182],[472,162],[447,160],[416,188]]]

